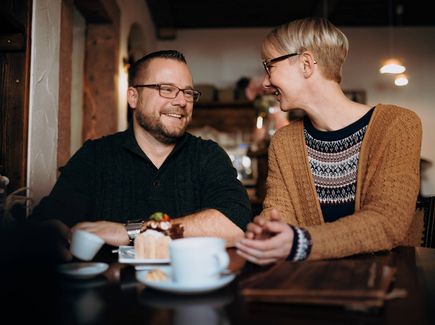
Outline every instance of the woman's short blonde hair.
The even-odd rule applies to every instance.
[[[283,54],[310,51],[323,76],[340,83],[349,42],[346,35],[327,19],[310,17],[291,21],[272,30],[263,41],[264,59],[270,59],[271,49]]]

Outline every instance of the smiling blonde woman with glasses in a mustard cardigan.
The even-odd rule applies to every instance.
[[[281,110],[306,116],[272,139],[264,210],[237,244],[251,262],[389,250],[418,231],[420,120],[348,99],[340,88],[347,51],[346,36],[323,18],[292,21],[263,42],[263,86],[275,89]]]

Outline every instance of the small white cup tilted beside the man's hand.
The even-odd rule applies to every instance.
[[[90,261],[103,244],[104,240],[101,237],[88,231],[75,230],[72,234],[70,252],[81,260]]]

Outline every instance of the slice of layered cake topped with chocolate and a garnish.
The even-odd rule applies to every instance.
[[[136,258],[169,259],[169,242],[172,239],[183,238],[183,233],[183,225],[172,223],[166,213],[153,213],[134,241]]]

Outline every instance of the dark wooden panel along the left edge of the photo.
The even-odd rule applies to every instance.
[[[0,8],[0,166],[9,192],[26,185],[31,11],[31,0]]]

